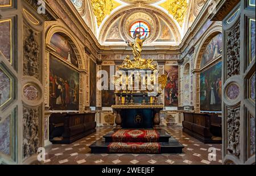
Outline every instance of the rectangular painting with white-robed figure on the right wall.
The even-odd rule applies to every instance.
[[[222,100],[222,62],[208,68],[200,74],[201,111],[221,111]]]

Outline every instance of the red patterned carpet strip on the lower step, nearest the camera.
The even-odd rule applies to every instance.
[[[110,143],[109,153],[160,153],[159,143]]]

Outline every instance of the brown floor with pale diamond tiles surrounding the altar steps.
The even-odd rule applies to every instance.
[[[204,144],[182,131],[182,127],[164,127],[184,145],[180,154],[92,154],[89,145],[108,134],[113,127],[98,127],[97,132],[69,145],[46,147],[45,165],[221,165],[221,144]],[[216,161],[208,160],[208,149],[216,148]],[[212,154],[211,154],[212,156]]]

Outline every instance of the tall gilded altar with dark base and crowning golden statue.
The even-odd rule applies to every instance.
[[[159,105],[158,97],[166,87],[167,75],[159,76],[153,59],[142,58],[146,37],[138,34],[133,42],[126,42],[134,58],[127,55],[113,79],[117,105],[112,109],[117,114],[117,127],[153,128],[160,124],[159,112],[164,105]]]

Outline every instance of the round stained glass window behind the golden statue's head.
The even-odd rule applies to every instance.
[[[142,38],[150,35],[150,26],[145,22],[135,22],[131,25],[130,35],[135,38],[137,34],[140,34]]]

